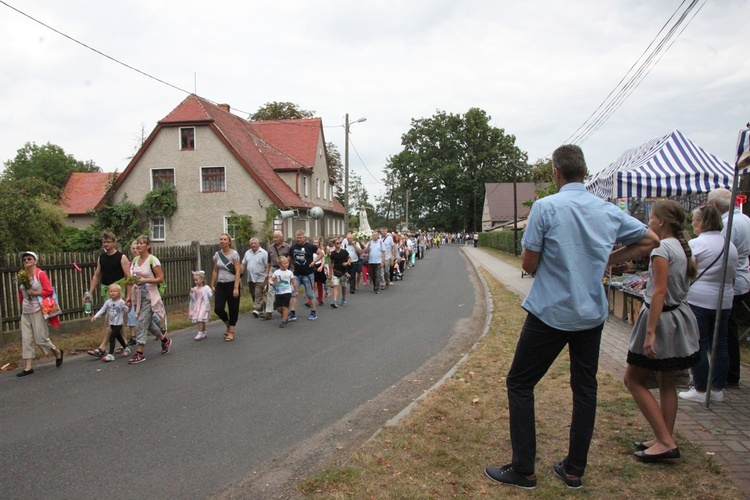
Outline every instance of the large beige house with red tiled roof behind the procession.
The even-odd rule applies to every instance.
[[[151,219],[151,239],[165,245],[214,243],[230,212],[249,215],[260,231],[266,218],[285,238],[298,229],[332,236],[344,230],[344,207],[334,198],[320,118],[252,122],[194,94],[159,120],[114,186],[115,203],[139,204],[166,184],[177,191],[177,211]],[[310,220],[308,210],[323,209]]]

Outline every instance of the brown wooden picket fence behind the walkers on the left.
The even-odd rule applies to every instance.
[[[248,245],[239,245],[240,259]],[[206,281],[213,270],[213,255],[219,245],[154,247],[153,253],[159,258],[164,270],[167,289],[162,300],[164,305],[187,307],[190,288],[194,286],[192,271],[206,271]],[[88,290],[96,269],[100,252],[63,252],[39,254],[38,266],[49,275],[62,309],[60,320],[73,322],[85,318],[83,294]],[[128,255],[129,257],[129,255]],[[20,331],[21,304],[18,300],[17,274],[21,269],[17,255],[0,256],[0,345]],[[98,287],[97,287],[98,288]],[[107,297],[94,293],[94,310],[98,310]]]

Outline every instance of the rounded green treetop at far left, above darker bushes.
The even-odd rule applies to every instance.
[[[76,160],[73,155],[66,154],[63,148],[52,143],[38,146],[34,142],[27,142],[16,152],[13,160],[5,162],[3,178],[20,180],[34,178],[44,181],[56,189],[59,196],[68,176],[72,172],[101,172],[102,169],[89,160]]]

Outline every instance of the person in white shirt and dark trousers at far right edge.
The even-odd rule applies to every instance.
[[[708,205],[715,206],[721,212],[724,229],[721,234],[726,236],[729,208],[732,203],[732,192],[728,189],[712,189],[708,193]],[[750,255],[750,217],[743,214],[737,207],[732,217],[732,234],[730,240],[737,247],[737,277],[734,280],[734,302],[732,313],[729,315],[729,373],[727,385],[737,386],[740,383],[740,339],[737,323],[740,318],[747,316],[744,303],[750,299],[750,271],[748,270],[748,256]]]

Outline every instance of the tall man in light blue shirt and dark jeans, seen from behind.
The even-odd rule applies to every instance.
[[[649,255],[659,238],[642,222],[586,191],[581,148],[561,146],[552,154],[559,193],[531,207],[522,240],[521,265],[536,273],[522,307],[528,312],[508,373],[508,406],[513,459],[488,466],[490,479],[536,488],[534,387],[567,345],[573,418],[568,456],[553,470],[570,488],[583,483],[596,419],[596,373],[602,327],[608,315],[602,276],[615,243],[621,260]]]

